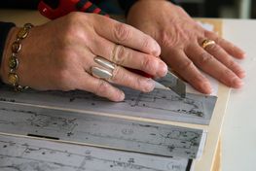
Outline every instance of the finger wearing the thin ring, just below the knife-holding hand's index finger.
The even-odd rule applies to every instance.
[[[141,70],[153,77],[164,77],[167,72],[165,62],[158,57],[116,45],[98,36],[93,41],[91,44],[92,53],[118,65]]]

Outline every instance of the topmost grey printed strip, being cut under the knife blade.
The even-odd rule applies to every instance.
[[[217,100],[215,96],[187,93],[181,98],[168,89],[155,88],[150,93],[124,88],[126,100],[110,102],[85,91],[34,91],[16,93],[0,88],[0,101],[10,101],[65,109],[78,109],[154,120],[172,120],[209,124]]]

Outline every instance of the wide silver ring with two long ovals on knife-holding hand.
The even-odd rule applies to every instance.
[[[116,67],[116,64],[100,56],[95,56],[93,60],[95,63],[97,63],[101,67],[92,66],[91,75],[98,79],[104,79],[104,80],[111,79],[113,76],[113,71]]]

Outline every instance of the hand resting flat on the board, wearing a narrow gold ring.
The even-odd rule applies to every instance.
[[[167,65],[201,92],[210,93],[211,85],[200,70],[225,85],[243,85],[245,72],[233,57],[241,59],[244,52],[203,29],[182,8],[165,0],[140,0],[131,7],[128,23],[155,38]],[[206,39],[216,44],[201,48]]]

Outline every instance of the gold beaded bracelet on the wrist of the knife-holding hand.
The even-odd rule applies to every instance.
[[[9,74],[8,82],[14,86],[16,91],[22,91],[23,89],[28,88],[28,86],[18,85],[18,52],[21,50],[21,41],[27,37],[29,29],[32,28],[31,23],[25,23],[22,28],[18,31],[17,39],[12,45],[12,54],[8,61]]]

